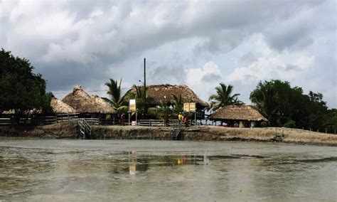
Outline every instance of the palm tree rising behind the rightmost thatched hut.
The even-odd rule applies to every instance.
[[[242,105],[243,102],[237,99],[240,94],[232,94],[232,85],[226,86],[220,83],[220,86],[215,87],[216,94],[210,95],[208,101],[210,101],[210,110],[218,110],[220,107],[227,105]]]

